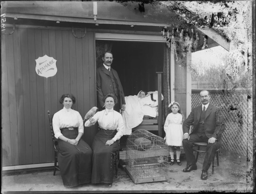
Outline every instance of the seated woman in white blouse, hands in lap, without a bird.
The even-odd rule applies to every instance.
[[[58,164],[65,187],[91,182],[90,146],[81,139],[83,120],[79,112],[72,110],[75,103],[72,94],[63,94],[60,103],[63,109],[53,116],[53,130],[58,139]]]

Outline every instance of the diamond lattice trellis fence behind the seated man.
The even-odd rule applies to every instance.
[[[192,90],[192,108],[200,105],[200,91]],[[210,102],[221,108],[226,129],[222,148],[246,156],[252,153],[252,93],[210,91]]]

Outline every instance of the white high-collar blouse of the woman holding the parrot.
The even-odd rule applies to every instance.
[[[124,122],[122,115],[116,112],[113,108],[97,112],[92,119],[98,121],[99,127],[108,130],[117,130],[116,135],[112,138],[114,141],[123,136]]]

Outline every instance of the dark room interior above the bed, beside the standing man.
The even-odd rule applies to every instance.
[[[101,40],[97,40],[101,41]],[[113,63],[125,96],[140,90],[157,90],[157,73],[163,71],[164,43],[111,41]]]

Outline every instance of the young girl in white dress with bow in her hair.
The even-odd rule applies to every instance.
[[[181,165],[180,146],[182,146],[183,140],[182,124],[184,119],[178,102],[173,101],[168,107],[170,107],[171,113],[166,117],[164,130],[166,133],[166,143],[171,155],[170,165],[174,164],[174,147],[176,147],[176,162],[178,165]]]

